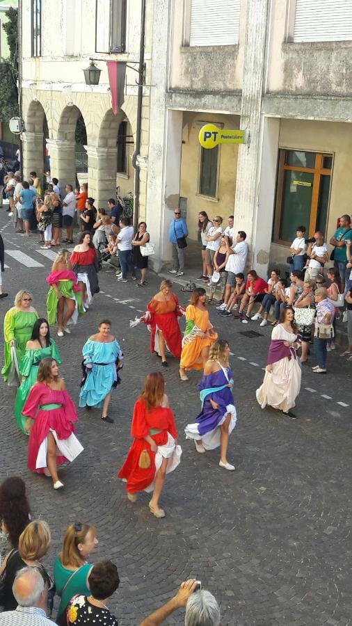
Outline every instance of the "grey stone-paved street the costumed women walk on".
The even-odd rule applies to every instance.
[[[6,249],[15,255],[6,255],[10,269],[3,280],[10,297],[1,300],[1,323],[22,287],[31,289],[38,311],[45,314],[45,276],[51,264],[38,252],[34,238],[24,241],[5,225],[1,215]],[[19,248],[37,264],[27,268],[19,262]],[[61,371],[77,399],[81,346],[104,315],[113,320],[125,351],[123,383],[113,396],[115,424],[102,424],[99,412],[79,410],[77,430],[85,450],[61,470],[62,492],[54,492],[47,479],[26,470],[26,438],[15,427],[14,392],[0,383],[0,479],[19,474],[26,480],[35,517],[51,527],[49,568],[67,524],[86,520],[98,529],[94,559],[107,556],[118,564],[121,585],[111,607],[121,626],[138,625],[180,581],[193,576],[221,603],[222,626],[352,624],[351,368],[335,353],[329,355],[328,376],[314,377],[305,370],[296,421],[273,410],[261,411],[255,388],[262,380],[270,330],[223,320],[211,310],[214,326],[230,340],[234,353],[238,423],[229,458],[237,471],[221,471],[216,451],[198,456],[193,444],[184,440],[184,425],[199,411],[199,374],[182,384],[177,363],[170,360],[163,374],[183,456],[162,495],[167,517],[157,520],[147,510],[147,495],[137,504],[127,501],[115,472],[129,447],[131,410],[143,378],[159,367],[148,353],[145,326],[130,331],[128,322],[136,310],[144,310],[159,280],[152,276],[145,289],[136,289],[132,282],[117,284],[113,273],[103,272],[99,280],[102,292],[92,310],[70,337],[57,339]],[[178,287],[175,291],[186,303]],[[261,336],[240,334],[253,329]],[[167,623],[181,625],[182,611]]]

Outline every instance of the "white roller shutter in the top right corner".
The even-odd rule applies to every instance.
[[[352,40],[352,0],[296,0],[294,41]]]

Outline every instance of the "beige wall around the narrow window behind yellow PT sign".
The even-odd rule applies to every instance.
[[[192,239],[198,236],[198,213],[207,211],[209,218],[221,215],[227,225],[227,217],[234,212],[234,193],[236,188],[237,145],[220,147],[220,165],[218,168],[218,200],[198,195],[200,143],[198,134],[202,124],[207,122],[222,123],[224,128],[239,127],[239,118],[235,115],[211,115],[207,113],[184,113],[182,134],[182,161],[180,195],[187,198],[187,224]]]

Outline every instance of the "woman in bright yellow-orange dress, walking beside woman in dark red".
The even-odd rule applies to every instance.
[[[179,378],[189,380],[186,370],[203,369],[208,359],[209,347],[214,344],[218,335],[209,321],[209,313],[205,306],[207,294],[205,289],[198,287],[191,295],[191,304],[186,308],[186,330],[182,339]]]

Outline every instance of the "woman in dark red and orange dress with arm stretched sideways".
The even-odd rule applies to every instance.
[[[166,351],[179,359],[182,349],[182,335],[177,318],[182,317],[184,308],[179,306],[177,296],[171,291],[172,287],[170,280],[163,280],[160,291],[150,300],[145,314],[130,322],[131,327],[141,321],[147,324],[150,330],[150,352],[161,357],[163,367],[168,365]]]

